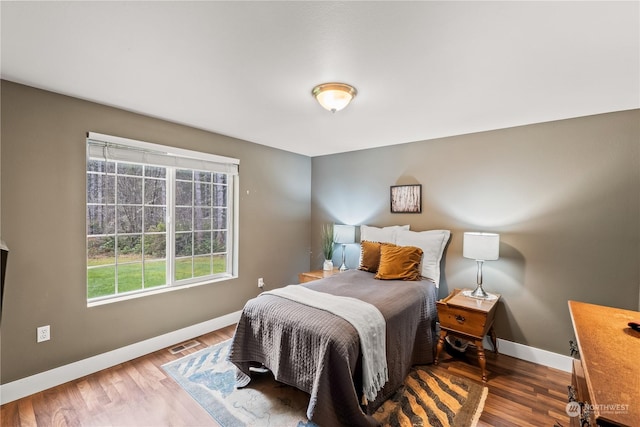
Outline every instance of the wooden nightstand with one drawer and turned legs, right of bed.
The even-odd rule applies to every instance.
[[[499,294],[494,299],[477,299],[462,294],[461,289],[454,289],[451,294],[437,302],[438,319],[440,320],[440,339],[436,349],[435,364],[444,347],[447,335],[454,335],[471,341],[478,349],[478,364],[482,371],[482,382],[487,382],[487,361],[482,341],[489,334],[493,351],[497,352],[496,334],[493,331],[493,320],[500,300]]]

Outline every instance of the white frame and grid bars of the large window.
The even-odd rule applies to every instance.
[[[103,295],[98,297],[89,297],[89,271],[92,267],[89,265],[89,240],[93,234],[90,234],[89,229],[89,215],[88,210],[90,206],[96,206],[95,203],[90,203],[89,195],[89,161],[90,160],[104,160],[114,161],[121,163],[133,163],[144,166],[160,166],[165,168],[165,192],[166,192],[166,239],[165,239],[165,284],[156,285],[149,288],[136,289],[132,291],[117,292],[117,287],[114,289],[114,293],[110,295]],[[86,246],[86,280],[85,290],[87,306],[102,305],[122,300],[128,300],[132,298],[139,298],[142,296],[153,295],[163,292],[169,292],[178,289],[185,289],[193,286],[200,286],[205,284],[212,284],[217,282],[226,281],[229,279],[235,279],[238,277],[238,229],[239,229],[239,163],[238,159],[219,156],[215,154],[203,153],[199,151],[186,150],[177,147],[171,147],[166,145],[154,144],[149,142],[143,142],[128,138],[115,137],[111,135],[99,134],[96,132],[88,132],[86,138],[86,166],[85,166],[85,246]],[[224,272],[211,271],[209,275],[197,276],[190,278],[177,279],[176,278],[176,259],[179,256],[176,254],[176,171],[177,170],[191,170],[211,173],[213,190],[215,181],[215,174],[224,174],[226,176],[226,270]],[[116,171],[117,172],[117,171]],[[104,172],[107,175],[107,172]],[[117,173],[114,173],[117,176]],[[193,174],[192,183],[196,185],[198,182],[195,178],[196,174]],[[140,179],[143,181],[147,178],[143,173]],[[115,181],[115,178],[114,178]],[[114,187],[114,192],[117,191],[117,187]],[[142,200],[142,206],[146,206],[146,200],[144,200],[144,192]],[[194,200],[192,197],[192,206],[195,211]],[[103,204],[107,206],[107,204]],[[118,209],[119,205],[117,199],[113,203],[115,209]],[[213,205],[209,206],[210,209],[214,209]],[[192,224],[192,235],[195,236],[195,224]],[[119,230],[113,231],[113,236],[119,235]],[[146,233],[151,233],[146,229],[140,231],[140,235],[144,236]],[[213,235],[214,230],[211,230]],[[109,233],[105,234],[105,236]],[[150,235],[150,234],[146,234]],[[193,246],[192,246],[193,248]],[[144,254],[144,251],[142,252]],[[191,258],[195,260],[197,254],[192,251]],[[211,262],[215,254],[213,251],[209,253],[211,256]],[[153,262],[153,261],[151,261]],[[114,268],[115,274],[118,271],[117,249],[114,248]],[[145,269],[145,259],[141,256],[141,268]],[[213,269],[213,264],[211,265]],[[193,272],[193,267],[192,267]],[[116,282],[117,283],[117,282]],[[144,286],[144,283],[142,284]]]

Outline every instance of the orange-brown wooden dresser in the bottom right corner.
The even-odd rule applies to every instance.
[[[580,404],[571,425],[640,426],[640,332],[627,325],[640,312],[576,301],[569,311],[579,357],[569,401]]]

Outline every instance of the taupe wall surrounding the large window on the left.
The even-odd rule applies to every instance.
[[[2,239],[10,248],[1,382],[240,310],[309,268],[311,160],[3,81]],[[87,308],[88,131],[240,159],[239,278]],[[51,341],[36,344],[36,328]]]

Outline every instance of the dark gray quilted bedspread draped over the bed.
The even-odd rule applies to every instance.
[[[375,306],[386,321],[389,380],[375,400],[363,404],[362,352],[358,331],[329,311],[277,295],[261,294],[245,305],[230,360],[236,384],[251,380],[263,364],[276,380],[309,393],[307,417],[320,426],[376,425],[370,416],[402,384],[412,365],[432,363],[438,290],[430,280],[376,280],[349,270],[302,285]]]

